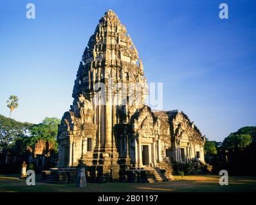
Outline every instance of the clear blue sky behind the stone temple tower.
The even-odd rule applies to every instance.
[[[36,19],[26,19],[34,3]],[[219,19],[227,3],[229,19]],[[163,108],[183,110],[210,140],[256,126],[256,1],[0,0],[0,113],[61,118],[89,37],[112,9],[133,39]]]

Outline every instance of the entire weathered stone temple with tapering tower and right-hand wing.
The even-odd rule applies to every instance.
[[[104,89],[95,86],[100,83]],[[75,79],[73,104],[59,126],[59,170],[83,163],[89,181],[151,182],[171,179],[176,163],[205,163],[205,136],[187,115],[151,110],[144,103],[143,86],[140,102],[130,103],[127,95],[123,103],[118,85],[129,83],[146,83],[142,60],[125,26],[109,10],[89,38]]]

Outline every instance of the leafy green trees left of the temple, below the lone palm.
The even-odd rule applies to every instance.
[[[60,120],[46,117],[40,124],[18,122],[0,115],[0,152],[12,149],[16,154],[23,154],[28,147],[35,148],[38,140],[48,140],[57,151],[57,132]]]

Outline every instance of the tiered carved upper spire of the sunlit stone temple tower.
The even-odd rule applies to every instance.
[[[95,33],[89,38],[86,49],[82,56],[77,79],[73,90],[73,97],[77,101],[79,94],[84,94],[87,99],[98,92],[95,83],[107,84],[113,80],[113,89],[116,83],[138,83],[142,100],[133,105],[130,113],[141,108],[144,103],[147,90],[145,89],[146,78],[144,77],[142,60],[139,60],[138,51],[133,45],[131,37],[116,13],[112,10],[105,12],[99,20]],[[136,98],[136,97],[134,97]],[[131,106],[123,108],[128,114]]]

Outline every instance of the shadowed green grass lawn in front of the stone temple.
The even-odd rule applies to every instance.
[[[220,186],[219,177],[174,176],[174,180],[163,183],[88,183],[85,188],[77,188],[75,183],[38,181],[35,186],[28,186],[18,175],[0,175],[0,192],[256,192],[256,177],[229,177],[228,186]]]

